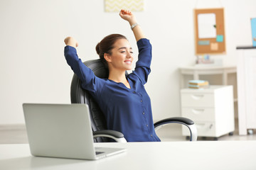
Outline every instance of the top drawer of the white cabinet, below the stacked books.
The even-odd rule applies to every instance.
[[[181,94],[181,106],[214,107],[213,94]]]

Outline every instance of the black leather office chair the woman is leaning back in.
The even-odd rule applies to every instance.
[[[109,71],[100,59],[89,60],[87,62],[84,62],[84,64],[92,69],[97,77],[100,77],[102,79],[108,78]],[[76,74],[74,74],[71,82],[70,97],[71,103],[86,103],[89,106],[92,132],[95,142],[110,142],[110,139],[115,140],[116,142],[127,142],[121,132],[107,130],[105,116],[103,115],[100,107],[94,101],[92,96],[85,89],[82,89],[81,81],[80,79],[78,79]],[[190,130],[190,140],[197,140],[196,126],[194,125],[193,121],[188,118],[175,117],[160,120],[159,122],[154,123],[155,130],[159,130],[159,128],[169,123],[179,123],[182,125],[186,125]]]

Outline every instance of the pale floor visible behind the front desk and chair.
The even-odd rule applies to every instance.
[[[181,125],[166,125],[156,132],[162,142],[186,141],[181,135]],[[252,135],[238,135],[238,122],[235,122],[233,135],[215,137],[198,137],[198,140],[256,140],[256,132]],[[25,125],[0,125],[0,144],[23,144],[28,143]]]

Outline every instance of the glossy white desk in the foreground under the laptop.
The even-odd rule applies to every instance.
[[[256,169],[256,141],[104,143],[127,152],[86,161],[32,157],[28,145],[0,145],[0,169]]]

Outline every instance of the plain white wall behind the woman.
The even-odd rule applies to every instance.
[[[237,45],[251,45],[250,18],[255,0],[144,0],[135,13],[153,45],[146,89],[154,119],[180,115],[178,67],[195,62],[193,8],[225,8],[227,55],[236,63]],[[64,38],[75,37],[82,60],[97,58],[95,45],[121,33],[136,48],[128,24],[118,13],[105,13],[103,0],[0,1],[0,125],[24,123],[22,103],[70,103],[73,72],[63,57]],[[137,52],[135,52],[137,54]]]

